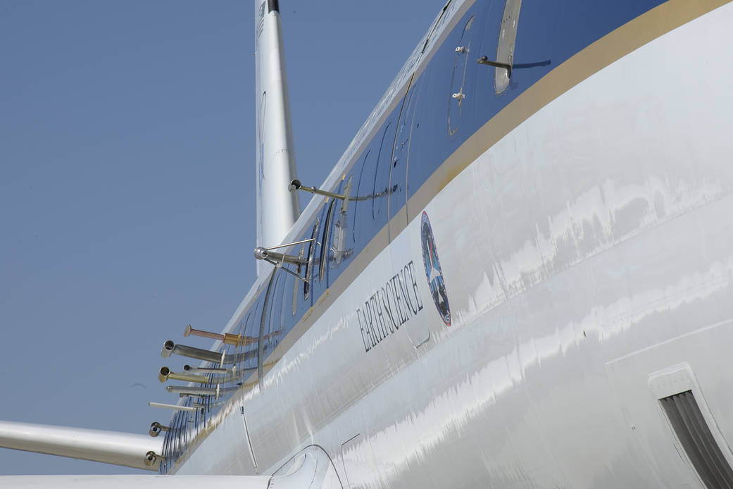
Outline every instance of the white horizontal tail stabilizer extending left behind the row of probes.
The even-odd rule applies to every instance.
[[[155,454],[162,452],[163,440],[133,433],[0,421],[0,446],[157,471],[161,457]]]

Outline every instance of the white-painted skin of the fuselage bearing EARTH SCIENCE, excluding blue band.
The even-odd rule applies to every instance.
[[[584,48],[471,134],[172,472],[269,475],[306,450],[334,487],[704,487],[655,379],[685,372],[731,457],[733,4],[618,48],[680,4]],[[314,198],[289,238],[328,204]]]

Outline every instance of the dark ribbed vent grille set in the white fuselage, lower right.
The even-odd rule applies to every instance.
[[[707,489],[733,489],[733,469],[712,437],[692,391],[660,399],[674,433]]]

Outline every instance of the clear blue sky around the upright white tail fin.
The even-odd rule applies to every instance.
[[[281,0],[303,184],[443,3]],[[168,421],[147,406],[176,401],[163,342],[220,331],[254,282],[253,18],[251,0],[0,3],[0,419]],[[133,472],[0,449],[0,474]]]

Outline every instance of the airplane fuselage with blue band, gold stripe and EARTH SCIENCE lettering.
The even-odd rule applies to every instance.
[[[251,373],[174,415],[161,471],[704,487],[663,400],[690,391],[732,461],[732,25],[450,2],[323,185],[350,198],[286,239],[314,238],[283,265],[306,281],[262,274],[225,330],[259,342],[216,345]]]

